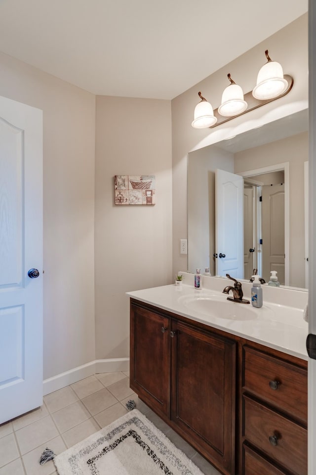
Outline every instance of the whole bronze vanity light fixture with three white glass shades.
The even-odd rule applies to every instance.
[[[231,84],[224,90],[222,103],[218,109],[213,110],[205,97],[200,92],[198,93],[201,101],[194,110],[192,127],[195,129],[216,127],[290,92],[293,86],[293,78],[289,75],[283,75],[282,66],[278,62],[272,61],[268,49],[265,53],[268,61],[260,69],[257,85],[253,91],[243,95],[241,87],[228,74]]]

